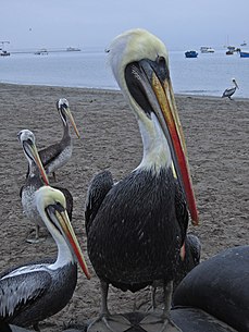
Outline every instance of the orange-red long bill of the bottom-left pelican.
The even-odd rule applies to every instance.
[[[82,249],[79,247],[77,237],[71,225],[70,218],[69,218],[66,210],[60,211],[60,212],[57,210],[55,217],[57,217],[58,221],[60,222],[60,225],[62,228],[66,242],[70,245],[70,247],[72,248],[73,253],[75,254],[83,272],[86,274],[87,279],[90,279],[90,273],[88,271],[88,268],[87,268],[85,258],[83,256]]]

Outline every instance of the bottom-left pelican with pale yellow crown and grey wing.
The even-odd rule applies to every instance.
[[[0,320],[20,327],[33,325],[59,312],[72,298],[77,282],[77,262],[89,279],[79,244],[70,223],[64,195],[50,186],[35,193],[37,210],[58,246],[54,261],[43,260],[0,274]]]

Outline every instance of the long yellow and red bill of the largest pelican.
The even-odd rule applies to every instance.
[[[199,217],[188,167],[187,149],[169,70],[164,67],[164,71],[166,71],[162,74],[161,66],[157,66],[157,63],[155,65],[148,64],[146,60],[142,60],[141,65],[146,72],[146,79],[142,86],[167,138],[174,170],[184,189],[192,224],[197,225]]]

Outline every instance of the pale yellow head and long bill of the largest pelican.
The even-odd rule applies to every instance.
[[[144,146],[166,142],[166,153],[158,161],[171,164],[183,187],[191,220],[198,223],[186,145],[171,84],[169,56],[164,44],[145,29],[117,36],[108,49],[112,72],[135,112]],[[160,147],[159,147],[160,149]],[[151,149],[150,149],[151,150]],[[158,158],[153,148],[152,158]],[[145,150],[144,150],[145,156]]]

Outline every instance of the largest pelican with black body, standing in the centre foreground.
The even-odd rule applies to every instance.
[[[135,29],[113,40],[109,58],[138,121],[144,156],[116,184],[110,172],[103,172],[88,189],[88,255],[101,281],[100,319],[107,324],[111,320],[107,304],[110,283],[136,292],[161,281],[164,320],[170,316],[173,280],[185,258],[188,210],[194,224],[198,223],[167,51],[155,36]]]

